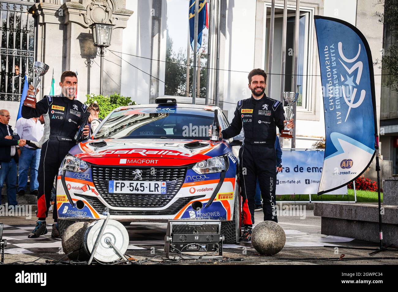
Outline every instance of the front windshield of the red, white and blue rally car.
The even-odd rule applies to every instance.
[[[95,139],[209,140],[214,112],[197,108],[127,108],[116,110]]]

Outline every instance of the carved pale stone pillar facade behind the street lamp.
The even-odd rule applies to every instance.
[[[111,46],[104,57],[103,94],[120,92],[122,30],[133,14],[125,9],[125,0],[38,0],[32,7],[37,15],[37,60],[54,68],[56,84],[62,71],[78,73],[78,99],[100,92],[100,56],[93,44],[92,23],[113,24]],[[113,50],[115,52],[111,52]],[[51,73],[43,79],[47,94]],[[57,87],[57,93],[60,92]]]

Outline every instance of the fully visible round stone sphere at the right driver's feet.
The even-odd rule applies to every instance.
[[[254,227],[252,245],[262,255],[275,255],[285,246],[286,234],[274,221],[263,221]]]

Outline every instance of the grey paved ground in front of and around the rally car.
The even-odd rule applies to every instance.
[[[298,214],[297,214],[298,215]],[[348,249],[343,246],[367,247],[374,246],[370,242],[361,242],[349,238],[339,238],[320,234],[320,217],[314,217],[312,210],[307,210],[301,216],[279,216],[279,224],[285,230],[287,239],[285,248],[273,257],[259,255],[251,244],[227,245],[223,255],[229,258],[244,258],[247,263],[269,264],[397,264],[396,259],[379,259],[381,257],[398,257],[398,251],[384,251],[369,259],[354,259],[368,257],[369,250]],[[305,219],[303,219],[305,215]],[[263,213],[255,214],[256,222],[262,221]],[[64,256],[61,242],[50,237],[52,220],[47,221],[49,233],[38,239],[26,238],[33,229],[35,218],[0,217],[0,222],[6,224],[3,238],[8,239],[5,263],[15,261],[43,262],[40,257],[60,259]],[[163,238],[166,224],[163,223],[133,223],[127,228],[130,237],[127,253],[135,259],[149,257],[164,257]],[[330,247],[327,247],[330,246]],[[337,247],[336,247],[337,246]],[[14,254],[13,254],[14,253]],[[154,254],[153,254],[154,253]],[[342,256],[344,254],[344,256]],[[339,260],[343,257],[342,260]],[[377,257],[377,259],[375,259]],[[346,260],[352,258],[353,260]],[[39,260],[38,260],[39,259]],[[326,260],[328,259],[328,260]],[[158,260],[158,259],[155,259]],[[244,263],[244,262],[240,262]]]

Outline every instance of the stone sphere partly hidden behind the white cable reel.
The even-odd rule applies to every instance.
[[[62,233],[61,240],[64,253],[68,254],[73,251],[68,255],[69,259],[84,261],[90,258],[83,246],[83,235],[88,225],[88,222],[76,222],[68,226]]]

